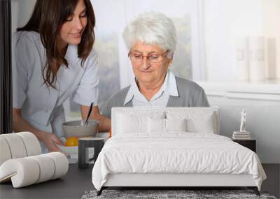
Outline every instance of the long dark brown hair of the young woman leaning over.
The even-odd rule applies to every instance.
[[[87,8],[87,26],[78,44],[78,57],[81,59],[81,66],[90,54],[95,40],[95,16],[92,4],[90,0],[83,1]],[[54,89],[56,88],[55,83],[59,66],[64,64],[68,67],[64,54],[59,52],[57,48],[57,35],[67,17],[75,10],[77,3],[78,0],[37,0],[27,24],[17,29],[17,31],[36,31],[40,34],[47,57],[42,71],[43,80],[48,87]]]

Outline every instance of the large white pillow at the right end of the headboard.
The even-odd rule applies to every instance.
[[[218,133],[213,112],[207,111],[167,111],[167,119],[187,119],[187,131],[191,133]]]

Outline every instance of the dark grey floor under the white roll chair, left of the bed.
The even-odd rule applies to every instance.
[[[14,189],[11,182],[0,184],[0,198],[81,198],[85,191],[94,189],[92,167],[79,169],[77,164],[69,164],[64,177],[19,189]]]

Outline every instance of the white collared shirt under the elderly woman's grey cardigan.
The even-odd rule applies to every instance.
[[[160,90],[148,101],[143,94],[139,91],[137,82],[134,80],[127,91],[124,105],[132,101],[134,107],[137,106],[162,106],[166,107],[169,96],[179,96],[177,89],[176,79],[172,71],[167,71],[165,82],[163,82]]]

